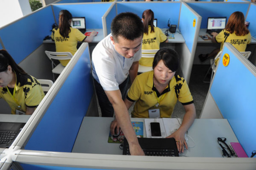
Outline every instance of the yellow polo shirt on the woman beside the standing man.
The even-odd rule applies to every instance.
[[[154,87],[153,75],[154,71],[138,75],[129,89],[127,99],[133,102],[136,101],[134,110],[131,112],[133,118],[149,118],[148,110],[156,108],[160,109],[161,118],[170,118],[177,100],[182,105],[194,103],[184,78],[174,75],[169,86],[166,87],[162,94],[159,94]],[[160,98],[158,107],[155,107],[158,103],[156,94]]]

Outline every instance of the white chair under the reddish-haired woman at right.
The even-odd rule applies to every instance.
[[[204,76],[203,78],[203,82],[207,82],[205,81],[205,78],[207,77],[208,73],[210,72],[210,69],[212,69],[212,73],[211,73],[211,78],[210,78],[210,82],[212,81],[213,79],[213,73],[216,72],[216,67],[217,67],[217,64],[220,60],[220,54],[221,54],[222,51],[220,51],[217,56],[214,58],[214,59],[210,59],[210,68],[208,69],[206,75]],[[249,58],[249,56],[251,55],[252,52],[250,51],[245,51],[245,52],[240,52],[246,59]],[[208,82],[209,83],[209,82]]]

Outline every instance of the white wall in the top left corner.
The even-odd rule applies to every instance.
[[[0,27],[31,12],[29,0],[0,0]]]

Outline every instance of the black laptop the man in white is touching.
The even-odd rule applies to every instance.
[[[146,156],[178,157],[176,141],[172,138],[138,138]],[[123,155],[130,155],[128,141],[124,140]]]

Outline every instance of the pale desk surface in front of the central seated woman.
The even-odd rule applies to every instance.
[[[122,154],[120,144],[108,143],[109,126],[114,118],[84,117],[72,152],[86,154]],[[143,118],[131,118],[131,121],[143,121]],[[144,127],[144,137],[145,137]],[[184,150],[187,157],[222,157],[217,137],[226,137],[226,143],[238,142],[226,119],[196,119],[188,135],[195,146]],[[188,144],[192,144],[188,138]],[[180,155],[180,156],[182,156]]]

